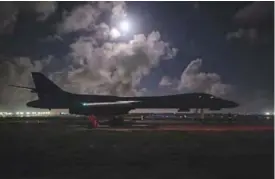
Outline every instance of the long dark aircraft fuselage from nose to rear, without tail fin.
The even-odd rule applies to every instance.
[[[117,102],[124,102],[118,104]],[[133,102],[133,103],[127,103]],[[89,104],[87,106],[83,104]],[[95,105],[93,105],[95,104]],[[208,94],[190,93],[168,96],[153,96],[153,97],[117,97],[117,96],[98,96],[98,95],[74,95],[66,94],[66,96],[45,97],[43,100],[35,100],[27,103],[27,106],[34,108],[46,109],[93,109],[99,110],[123,110],[136,108],[208,108],[221,109],[233,108],[237,104],[232,101],[216,98]]]

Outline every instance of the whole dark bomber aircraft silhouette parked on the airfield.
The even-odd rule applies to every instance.
[[[137,108],[177,108],[179,111],[190,109],[220,110],[234,108],[238,104],[206,93],[186,93],[167,96],[119,97],[109,95],[86,95],[66,92],[54,84],[42,73],[32,72],[35,88],[25,88],[37,93],[38,100],[27,103],[28,107],[41,109],[69,109],[70,114],[87,115],[92,121],[94,116],[117,116],[127,114]]]

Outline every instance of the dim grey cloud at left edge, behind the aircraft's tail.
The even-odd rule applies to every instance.
[[[8,87],[9,84],[33,86],[31,72],[41,71],[50,63],[49,59],[32,62],[28,57],[6,59],[1,57],[0,63],[0,105],[25,106],[26,101],[36,96],[28,90]]]

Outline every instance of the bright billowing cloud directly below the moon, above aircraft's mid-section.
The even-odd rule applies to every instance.
[[[136,95],[142,77],[174,54],[155,31],[136,35],[129,42],[105,42],[102,46],[79,39],[71,48],[68,81],[77,83],[81,92],[113,95]]]

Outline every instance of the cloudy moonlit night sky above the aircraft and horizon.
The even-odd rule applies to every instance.
[[[1,108],[22,108],[36,98],[6,85],[33,85],[30,72],[41,71],[71,92],[208,92],[239,102],[235,111],[273,110],[273,7],[273,2],[1,2]],[[112,29],[124,19],[130,30],[113,38]]]

